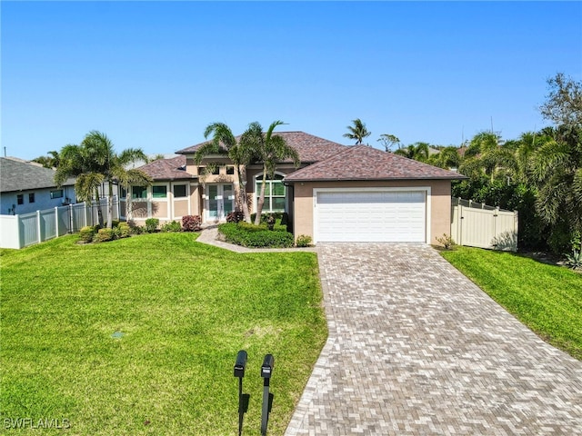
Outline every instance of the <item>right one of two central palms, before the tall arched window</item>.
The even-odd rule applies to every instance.
[[[299,154],[290,145],[286,144],[283,136],[273,134],[276,126],[284,124],[282,121],[275,121],[269,125],[266,133],[263,133],[263,127],[257,122],[248,124],[248,129],[242,134],[240,143],[255,155],[257,161],[263,163],[263,183],[261,183],[261,192],[256,204],[255,224],[261,223],[261,213],[265,204],[265,187],[267,176],[271,179],[275,177],[276,164],[291,158],[295,167],[299,167]]]

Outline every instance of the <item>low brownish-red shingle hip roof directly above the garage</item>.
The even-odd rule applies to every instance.
[[[325,161],[287,174],[287,182],[337,180],[461,179],[463,175],[386,153],[367,145],[346,147]]]

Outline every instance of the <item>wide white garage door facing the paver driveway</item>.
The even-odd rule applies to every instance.
[[[426,191],[316,193],[316,242],[426,242]]]

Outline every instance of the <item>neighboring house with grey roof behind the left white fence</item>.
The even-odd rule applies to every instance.
[[[31,213],[75,203],[75,180],[55,183],[55,170],[15,157],[0,157],[0,214]]]

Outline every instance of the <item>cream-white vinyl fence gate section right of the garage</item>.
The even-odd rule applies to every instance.
[[[451,237],[459,245],[517,252],[517,212],[452,198]]]

